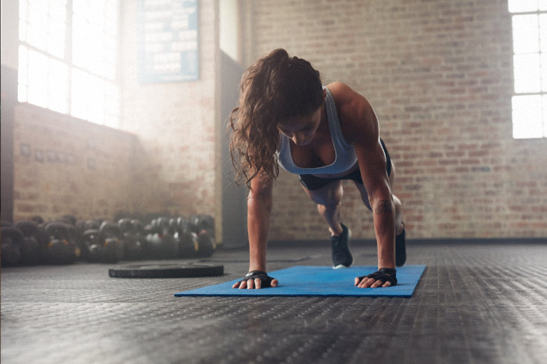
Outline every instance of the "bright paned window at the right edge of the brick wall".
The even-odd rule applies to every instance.
[[[547,137],[547,0],[509,0],[513,18],[513,138]]]

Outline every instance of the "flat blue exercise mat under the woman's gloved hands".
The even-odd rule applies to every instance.
[[[397,268],[397,285],[386,288],[357,288],[355,277],[377,271],[376,266],[358,266],[333,269],[325,266],[294,266],[269,272],[280,283],[276,288],[234,289],[235,281],[197,288],[175,294],[181,296],[393,296],[412,297],[420,281],[424,265],[409,265]]]

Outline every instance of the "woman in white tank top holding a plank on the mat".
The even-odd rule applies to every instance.
[[[247,199],[249,272],[233,288],[276,287],[266,273],[272,187],[278,165],[298,174],[330,231],[334,268],[349,267],[350,230],[340,221],[341,180],[352,180],[373,212],[378,271],[356,277],[359,288],[397,284],[395,266],[406,260],[401,202],[392,194],[395,170],[379,138],[372,106],[342,82],[322,86],[310,62],[276,49],[241,79],[230,115],[230,152]]]

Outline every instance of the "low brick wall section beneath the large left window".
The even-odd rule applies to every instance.
[[[45,110],[15,106],[14,220],[135,211],[137,138]]]

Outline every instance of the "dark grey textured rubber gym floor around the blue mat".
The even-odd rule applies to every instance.
[[[375,247],[353,246],[356,264]],[[414,243],[405,298],[181,297],[236,279],[109,278],[107,265],[2,268],[9,363],[547,363],[547,244]],[[327,245],[272,247],[269,270],[329,265]],[[348,282],[351,284],[351,282]]]

